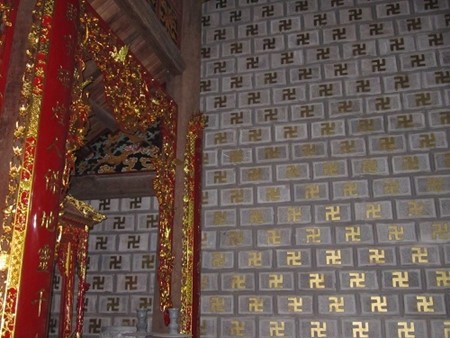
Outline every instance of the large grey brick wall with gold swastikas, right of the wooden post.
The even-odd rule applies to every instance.
[[[203,6],[202,337],[449,338],[449,2]]]

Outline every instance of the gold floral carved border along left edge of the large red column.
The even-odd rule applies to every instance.
[[[48,55],[50,23],[54,1],[38,0],[28,36],[29,50],[23,74],[19,116],[14,130],[8,193],[3,210],[0,257],[8,265],[0,271],[0,311],[4,336],[14,336],[17,293],[21,278],[25,230],[32,192],[37,130],[42,102],[44,69]]]

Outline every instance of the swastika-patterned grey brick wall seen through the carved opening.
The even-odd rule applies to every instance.
[[[158,203],[155,197],[104,199],[90,204],[108,218],[89,237],[84,335],[102,327],[136,326],[136,309],[153,307]],[[61,277],[54,279],[49,337],[57,337]],[[149,327],[151,318],[149,319]]]

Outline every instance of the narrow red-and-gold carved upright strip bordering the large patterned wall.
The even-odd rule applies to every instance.
[[[199,209],[198,191],[200,187],[198,173],[197,144],[206,119],[204,115],[197,114],[189,121],[186,149],[184,154],[184,196],[183,196],[183,260],[181,266],[181,318],[180,327],[182,333],[192,333],[193,326],[193,302],[194,302],[194,273],[195,261],[195,232],[199,230],[199,224],[195,223]],[[198,215],[197,215],[198,216]]]

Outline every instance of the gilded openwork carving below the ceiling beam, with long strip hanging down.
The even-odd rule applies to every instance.
[[[136,57],[129,52],[93,9],[85,2],[81,16],[84,39],[81,48],[85,60],[93,60],[102,72],[105,97],[122,131],[144,131],[159,122],[162,147],[154,158],[156,177],[154,190],[159,209],[160,308],[172,306],[171,276],[173,271],[172,225],[175,189],[175,102],[154,80]]]

